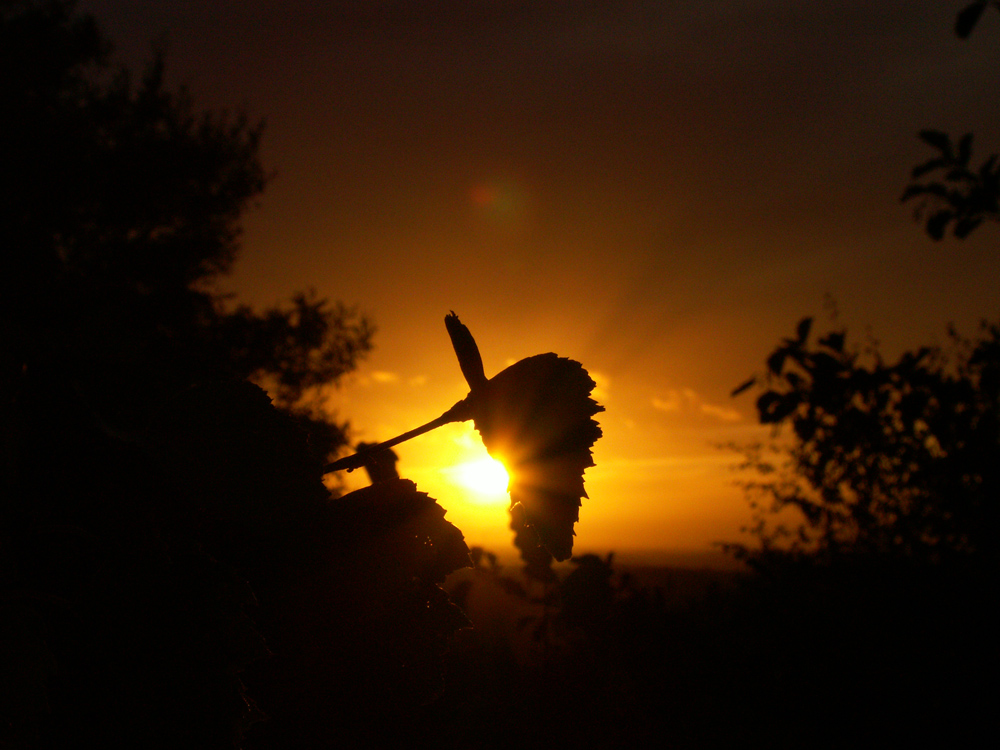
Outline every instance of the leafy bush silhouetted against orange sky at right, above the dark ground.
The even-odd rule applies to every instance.
[[[744,557],[761,561],[782,538],[786,550],[827,561],[993,555],[1000,329],[955,336],[950,357],[923,347],[887,363],[877,350],[863,361],[843,331],[811,344],[810,328],[803,320],[766,374],[736,390],[758,385],[761,423],[788,428],[776,433],[783,464],[748,453],[758,479],[746,487],[770,504],[757,506],[761,548],[742,548]],[[798,528],[769,530],[767,518],[785,509],[797,511]]]

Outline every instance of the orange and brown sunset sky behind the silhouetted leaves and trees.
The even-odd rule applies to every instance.
[[[376,350],[332,395],[359,440],[467,392],[454,310],[487,375],[554,351],[597,381],[604,437],[580,552],[739,538],[730,398],[835,301],[888,356],[996,316],[995,228],[934,243],[899,195],[923,128],[1000,148],[1000,14],[966,0],[83,0],[130,65],[165,44],[205,108],[266,119],[274,179],[225,289],[357,305]],[[471,544],[509,547],[485,455],[453,425],[397,451]],[[351,483],[362,481],[352,475]]]

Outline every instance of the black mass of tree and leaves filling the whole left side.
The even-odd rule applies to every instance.
[[[227,304],[260,127],[109,54],[0,5],[0,745],[387,739],[467,622],[464,541],[412,483],[324,486],[316,391],[371,326]]]

